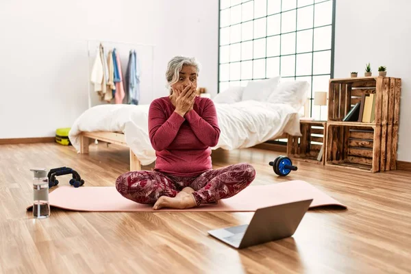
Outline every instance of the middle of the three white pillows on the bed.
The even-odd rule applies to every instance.
[[[270,79],[250,81],[242,93],[242,101],[266,101],[279,83],[280,76]]]

